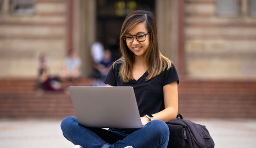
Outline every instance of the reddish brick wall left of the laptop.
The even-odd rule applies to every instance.
[[[68,86],[88,86],[89,79],[62,82]],[[0,79],[0,118],[63,118],[75,116],[69,94],[47,91],[39,94],[35,79]]]

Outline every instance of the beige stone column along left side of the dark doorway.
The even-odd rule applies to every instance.
[[[91,46],[96,40],[96,1],[76,0],[74,3],[74,49],[82,60],[82,76],[92,72]]]

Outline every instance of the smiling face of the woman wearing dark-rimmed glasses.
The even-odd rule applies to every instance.
[[[127,35],[138,35],[138,34],[146,34],[148,33],[148,29],[145,27],[145,23],[138,23],[135,25],[132,30],[130,30]],[[133,52],[134,56],[144,57],[146,50],[149,47],[150,36],[146,35],[146,40],[143,42],[139,42],[136,40],[136,37],[133,37],[132,43],[126,43],[128,48]]]

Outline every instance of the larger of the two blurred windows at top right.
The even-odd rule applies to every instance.
[[[239,16],[239,13],[240,13],[239,0],[216,0],[217,16],[235,17],[235,16]]]

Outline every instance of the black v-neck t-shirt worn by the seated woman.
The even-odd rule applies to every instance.
[[[174,81],[178,81],[179,83],[179,77],[174,64],[172,63],[170,69],[164,70],[160,75],[155,76],[149,81],[145,80],[145,78],[149,76],[149,73],[146,71],[137,81],[131,80],[127,83],[123,82],[119,76],[120,66],[121,63],[115,64],[114,68],[111,66],[104,83],[112,86],[132,86],[140,117],[143,117],[145,114],[154,114],[164,110],[164,85],[168,85]],[[109,130],[130,134],[136,129],[111,128]]]

